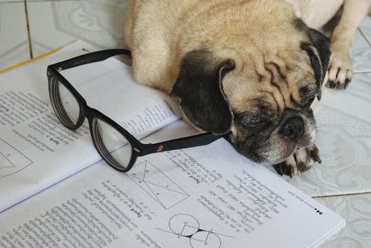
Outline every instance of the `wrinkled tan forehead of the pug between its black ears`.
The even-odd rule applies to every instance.
[[[306,107],[320,95],[320,85],[305,51],[262,51],[249,57],[249,63],[226,74],[223,80],[223,90],[234,112],[263,108],[279,113],[285,108]]]

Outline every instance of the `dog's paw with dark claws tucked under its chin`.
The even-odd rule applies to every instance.
[[[303,174],[308,171],[315,163],[322,163],[319,158],[319,150],[316,145],[310,147],[305,147],[294,152],[286,161],[274,165],[276,172],[283,176],[283,174],[288,175],[292,178],[297,173]]]

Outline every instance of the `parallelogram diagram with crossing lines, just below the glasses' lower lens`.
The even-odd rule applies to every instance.
[[[163,174],[157,167],[148,161],[135,165],[126,174],[134,183],[137,183],[141,189],[149,194],[165,209],[177,205],[188,194],[181,189],[166,174]]]

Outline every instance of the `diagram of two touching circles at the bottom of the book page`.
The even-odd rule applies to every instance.
[[[177,238],[188,238],[192,248],[219,248],[221,247],[221,239],[219,236],[226,236],[217,234],[215,232],[200,229],[199,221],[189,214],[177,214],[172,216],[169,220],[170,234],[174,234]],[[158,228],[157,228],[158,229]]]

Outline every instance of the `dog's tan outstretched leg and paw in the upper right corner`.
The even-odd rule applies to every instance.
[[[332,55],[327,87],[345,89],[352,79],[350,53],[358,25],[370,9],[371,0],[345,0],[341,19],[332,32]]]

